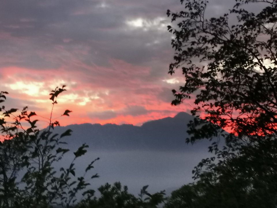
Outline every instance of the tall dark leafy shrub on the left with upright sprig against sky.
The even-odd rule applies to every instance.
[[[71,207],[76,201],[77,193],[83,191],[85,198],[93,196],[93,190],[88,190],[89,183],[85,179],[93,160],[84,174],[75,177],[74,162],[86,153],[88,145],[83,144],[74,152],[74,159],[68,168],[60,168],[56,172],[54,165],[61,161],[69,149],[64,148],[65,137],[71,135],[68,129],[61,135],[53,133],[58,121],[52,121],[54,105],[58,95],[65,91],[65,86],[56,88],[50,93],[52,111],[49,127],[39,130],[35,112],[28,112],[24,107],[20,115],[14,114],[18,109],[6,109],[0,120],[0,130],[3,141],[0,143],[0,207],[52,207],[59,205]],[[0,92],[0,102],[5,101],[8,92]],[[71,111],[65,110],[65,116]],[[6,119],[6,118],[10,119]],[[11,120],[12,119],[12,120]],[[22,121],[27,121],[28,128]],[[97,174],[91,178],[98,177]]]

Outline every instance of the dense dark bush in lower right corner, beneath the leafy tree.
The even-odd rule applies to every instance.
[[[198,181],[174,191],[165,208],[276,207],[277,140],[261,139],[216,151],[218,162],[203,159],[194,170]]]

